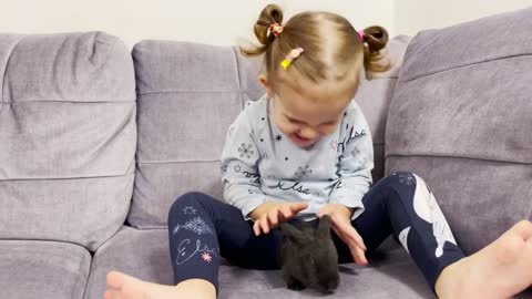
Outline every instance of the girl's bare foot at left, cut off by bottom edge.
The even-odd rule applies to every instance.
[[[164,286],[143,281],[119,271],[110,271],[106,277],[108,290],[104,299],[214,299],[213,283],[203,279],[185,280],[177,286]]]

